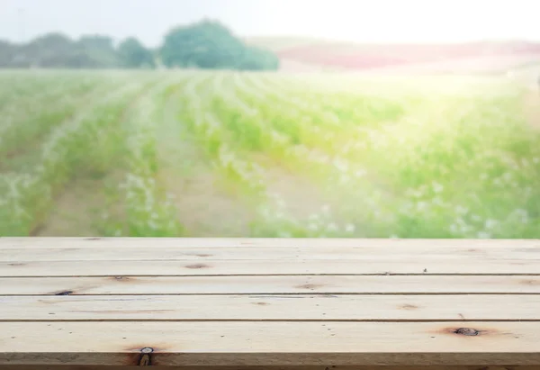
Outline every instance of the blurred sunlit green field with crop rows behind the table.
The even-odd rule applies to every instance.
[[[493,77],[4,71],[0,235],[540,238],[530,94]]]

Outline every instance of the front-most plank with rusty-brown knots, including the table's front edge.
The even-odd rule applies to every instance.
[[[1,365],[540,365],[540,322],[3,322]],[[464,335],[464,333],[476,335]]]

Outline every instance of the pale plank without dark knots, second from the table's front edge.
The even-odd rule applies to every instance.
[[[540,320],[540,295],[4,296],[6,320]]]

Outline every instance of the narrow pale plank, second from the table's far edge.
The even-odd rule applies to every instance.
[[[517,248],[9,248],[0,250],[0,261],[20,263],[24,261],[136,261],[136,260],[358,260],[369,262],[385,258],[391,262],[402,260],[445,258],[456,264],[462,260],[482,263],[485,260],[540,261],[540,247]]]

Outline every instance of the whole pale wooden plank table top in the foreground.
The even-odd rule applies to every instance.
[[[0,365],[540,365],[540,240],[0,238]]]

